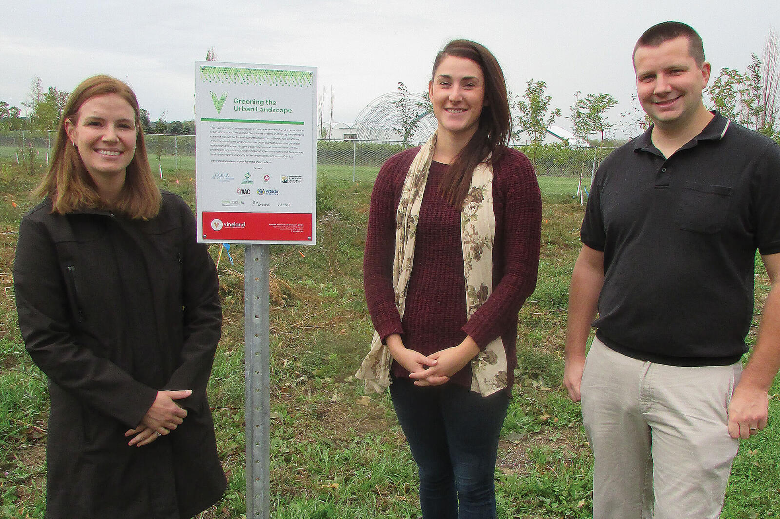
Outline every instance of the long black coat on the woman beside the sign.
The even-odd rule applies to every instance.
[[[192,517],[225,490],[206,384],[222,333],[218,277],[183,199],[160,214],[23,217],[19,323],[49,379],[48,519]],[[168,436],[129,447],[158,390],[193,390]]]

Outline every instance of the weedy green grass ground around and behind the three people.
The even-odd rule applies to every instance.
[[[0,159],[0,517],[43,517],[48,401],[44,376],[20,340],[12,260],[37,176]],[[163,163],[161,186],[194,199],[191,169]],[[271,510],[279,519],[397,517],[419,513],[417,476],[387,395],[367,397],[353,378],[371,341],[362,256],[375,170],[321,165],[318,244],[271,247]],[[555,180],[555,182],[551,182]],[[498,517],[591,517],[592,457],[579,404],[561,388],[569,278],[583,216],[572,184],[540,178],[544,192],[537,290],[519,313],[515,396],[502,430]],[[571,179],[569,179],[571,180]],[[557,187],[556,187],[557,186]],[[573,181],[576,188],[576,180]],[[556,190],[557,189],[557,190]],[[201,519],[242,517],[243,251],[222,257],[224,334],[209,394],[229,489]],[[218,248],[211,246],[218,256]],[[756,317],[769,282],[757,263]],[[754,340],[755,327],[750,341]],[[778,517],[780,380],[770,425],[739,447],[722,517]]]

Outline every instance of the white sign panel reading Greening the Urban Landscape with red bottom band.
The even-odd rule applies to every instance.
[[[198,241],[314,245],[317,69],[197,62]]]

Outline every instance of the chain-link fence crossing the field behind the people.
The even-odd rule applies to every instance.
[[[48,164],[55,132],[0,130],[0,158]],[[147,154],[152,169],[195,169],[195,136],[147,134]],[[409,147],[422,143],[409,143]],[[374,182],[381,165],[405,150],[401,141],[317,140],[317,175],[355,182]],[[593,172],[612,148],[566,147],[560,144],[518,147],[537,171],[545,196],[587,196]],[[194,176],[194,175],[193,175]]]

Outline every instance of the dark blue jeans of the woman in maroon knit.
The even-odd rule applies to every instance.
[[[509,397],[482,397],[454,383],[390,386],[395,413],[420,469],[424,519],[494,519],[498,435]]]

